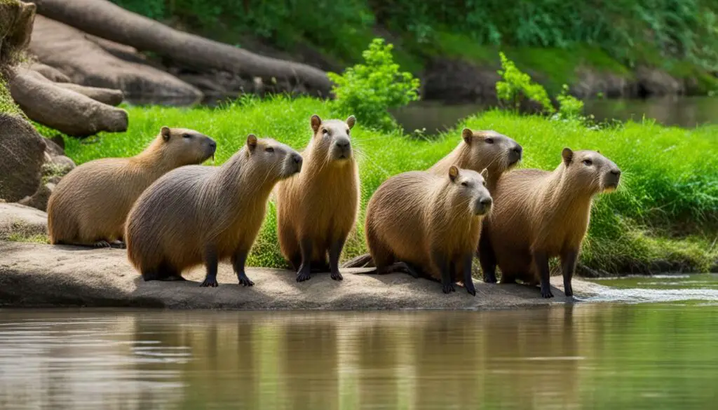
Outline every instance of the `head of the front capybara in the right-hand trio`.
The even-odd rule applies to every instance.
[[[486,169],[481,174],[471,169],[459,169],[456,165],[449,167],[449,192],[452,203],[465,205],[472,215],[485,215],[491,209],[493,200],[486,188]]]

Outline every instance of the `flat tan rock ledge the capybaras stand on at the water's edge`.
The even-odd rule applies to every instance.
[[[361,275],[343,270],[343,281],[314,274],[297,283],[293,271],[249,268],[252,287],[237,284],[229,264],[220,264],[218,288],[201,288],[204,269],[185,273],[186,282],[145,282],[125,251],[0,242],[0,304],[11,307],[95,306],[174,309],[500,309],[567,302],[554,289],[543,299],[522,285],[476,283],[477,296],[464,289],[443,294],[434,281],[406,274]],[[561,277],[552,278],[561,286]],[[574,293],[589,295],[599,285],[573,281]]]

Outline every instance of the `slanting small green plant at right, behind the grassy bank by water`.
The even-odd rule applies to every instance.
[[[519,70],[503,52],[499,52],[499,57],[501,57],[501,70],[498,70],[498,74],[501,80],[496,83],[496,96],[500,103],[508,104],[518,111],[523,98],[528,98],[541,104],[544,111],[556,112],[543,86],[533,83],[531,76]]]

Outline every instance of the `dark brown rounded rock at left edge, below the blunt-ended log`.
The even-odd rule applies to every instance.
[[[0,113],[0,200],[33,195],[42,178],[45,139],[19,116]]]

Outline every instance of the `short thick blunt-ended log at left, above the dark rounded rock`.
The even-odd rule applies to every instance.
[[[127,130],[127,112],[93,100],[28,69],[11,70],[10,94],[29,118],[70,136]]]

